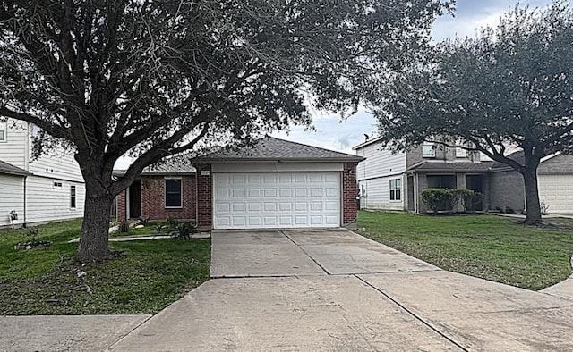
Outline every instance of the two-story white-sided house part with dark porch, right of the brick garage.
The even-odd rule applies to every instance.
[[[426,209],[422,202],[424,189],[473,189],[483,193],[488,187],[484,177],[491,162],[480,161],[479,153],[463,148],[449,148],[424,143],[407,152],[383,149],[380,138],[372,138],[353,148],[366,158],[358,164],[356,178],[360,205],[364,209]],[[483,197],[482,208],[488,206]]]

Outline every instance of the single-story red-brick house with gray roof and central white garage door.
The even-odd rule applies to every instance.
[[[182,207],[190,212],[194,209],[194,219],[204,229],[346,225],[356,217],[355,172],[356,164],[362,160],[360,156],[270,137],[252,147],[221,148],[193,160],[196,173],[188,175],[190,186],[181,189],[182,199],[187,197],[189,203]],[[167,211],[167,180],[174,175],[154,176],[154,194],[158,197],[150,201]],[[134,186],[134,192],[140,189],[142,199],[149,177],[143,175],[141,186]],[[176,194],[177,188],[173,189]],[[127,197],[131,190],[129,193]],[[141,203],[146,204],[145,199]],[[119,207],[122,206],[127,207],[127,202],[120,198]],[[142,216],[150,216],[150,206],[141,206]]]

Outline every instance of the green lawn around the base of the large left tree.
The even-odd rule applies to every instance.
[[[39,227],[50,247],[15,250],[26,230],[0,230],[0,315],[154,314],[209,279],[210,239],[116,242],[103,264],[73,262],[81,221]],[[79,272],[85,275],[78,275]]]

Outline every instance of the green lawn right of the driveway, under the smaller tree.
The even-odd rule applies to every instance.
[[[452,272],[525,289],[544,289],[571,274],[573,220],[527,227],[495,215],[426,216],[361,212],[370,239]]]

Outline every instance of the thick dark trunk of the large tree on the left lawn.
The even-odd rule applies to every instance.
[[[81,226],[80,246],[76,258],[81,263],[99,262],[109,258],[107,245],[110,210],[114,197],[108,194],[93,194],[86,189],[86,203]]]

